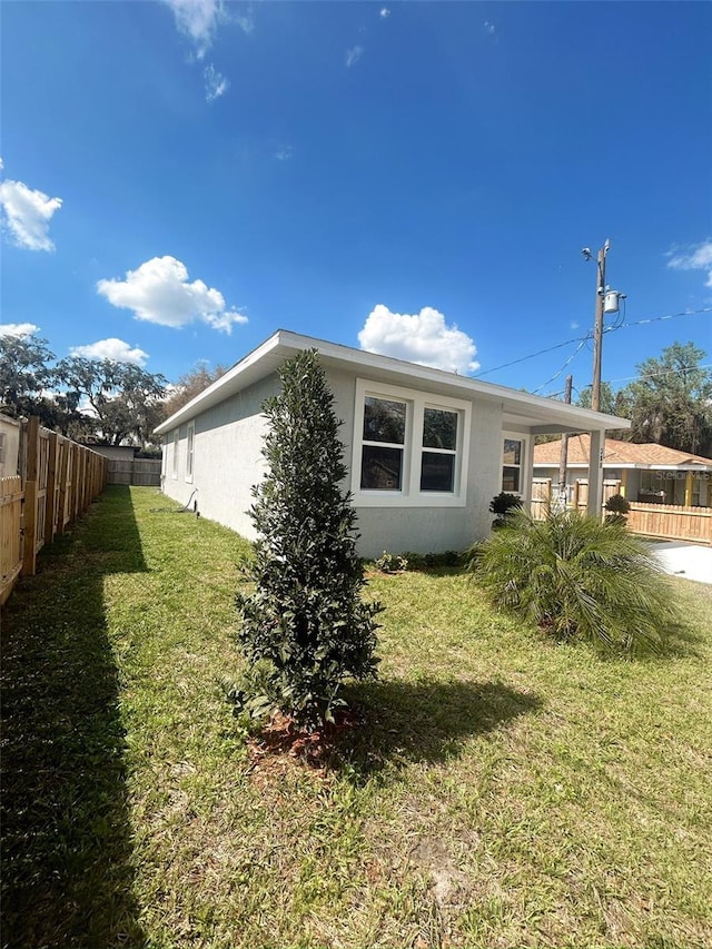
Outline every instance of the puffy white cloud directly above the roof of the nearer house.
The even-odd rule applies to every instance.
[[[461,374],[479,368],[475,362],[477,347],[469,336],[456,326],[447,326],[443,314],[429,306],[416,314],[400,314],[378,304],[368,315],[358,342],[369,353],[419,366]]]

